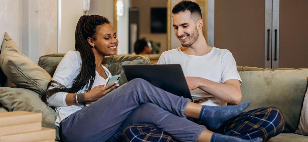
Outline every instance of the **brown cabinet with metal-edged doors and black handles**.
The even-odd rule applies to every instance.
[[[214,19],[238,66],[308,68],[308,0],[215,0]]]

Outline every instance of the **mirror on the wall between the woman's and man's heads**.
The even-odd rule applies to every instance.
[[[170,0],[123,0],[124,13],[117,17],[119,44],[125,43],[121,48],[127,48],[128,54],[134,54],[135,42],[138,39],[145,39],[151,43],[151,54],[161,54],[170,49],[168,44],[170,30],[167,29],[170,17],[169,2]],[[115,9],[116,7],[117,2]],[[118,54],[121,52],[123,53],[118,51]]]

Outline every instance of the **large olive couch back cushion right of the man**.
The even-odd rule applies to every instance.
[[[307,88],[308,70],[239,71],[242,100],[250,100],[246,110],[274,106],[285,118],[284,132],[294,133],[299,123]]]

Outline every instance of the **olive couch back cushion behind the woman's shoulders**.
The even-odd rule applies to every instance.
[[[39,58],[39,66],[45,69],[51,76],[54,75],[57,66],[62,60],[63,53],[54,53],[43,55]],[[150,64],[147,57],[141,55],[123,55],[123,56],[106,56],[102,63],[111,72],[111,75],[121,75],[119,84],[122,85],[127,82],[126,76],[122,69],[122,65],[146,65]]]

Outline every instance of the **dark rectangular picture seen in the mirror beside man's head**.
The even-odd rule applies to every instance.
[[[151,8],[151,33],[167,32],[167,8]]]

